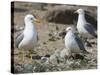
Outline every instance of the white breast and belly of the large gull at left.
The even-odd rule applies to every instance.
[[[37,32],[34,27],[24,30],[24,38],[19,44],[20,49],[29,50],[33,49],[37,43]]]

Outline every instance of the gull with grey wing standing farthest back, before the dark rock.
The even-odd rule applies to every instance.
[[[85,11],[83,9],[78,9],[75,13],[78,13],[77,30],[80,35],[84,38],[96,38],[97,34],[93,26],[85,19]]]

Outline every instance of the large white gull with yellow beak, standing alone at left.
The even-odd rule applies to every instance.
[[[40,22],[33,15],[28,14],[24,18],[25,28],[23,32],[16,37],[15,44],[20,50],[33,50],[37,44],[37,31],[34,22]],[[32,58],[32,57],[31,57]],[[24,51],[23,51],[24,61]]]

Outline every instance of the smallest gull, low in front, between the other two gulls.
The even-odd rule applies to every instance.
[[[72,27],[66,28],[65,47],[70,50],[70,53],[87,53],[81,39],[75,34]]]

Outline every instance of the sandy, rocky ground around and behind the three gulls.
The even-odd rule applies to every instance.
[[[12,25],[12,29],[14,28],[14,37],[23,30],[24,16],[26,14],[34,14],[36,18],[41,20],[41,23],[35,25],[39,37],[35,52],[26,51],[23,62],[21,50],[14,48],[14,53],[12,51],[12,57],[14,57],[14,73],[96,69],[97,39],[89,40],[92,47],[86,45],[86,49],[90,54],[86,54],[82,58],[78,56],[66,60],[61,59],[61,61],[57,59],[55,61],[57,63],[55,64],[48,64],[41,61],[41,57],[52,56],[57,51],[60,52],[64,49],[63,31],[68,26],[76,26],[77,15],[73,14],[73,12],[80,7],[90,12],[87,20],[96,28],[96,7],[15,2],[14,12],[11,12],[12,14],[14,13],[14,25]],[[91,20],[89,19],[90,17],[92,18]],[[33,54],[33,60],[30,60],[29,53]]]

